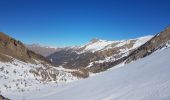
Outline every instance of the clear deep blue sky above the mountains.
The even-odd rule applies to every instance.
[[[0,31],[27,44],[129,39],[167,25],[170,0],[0,0]]]

